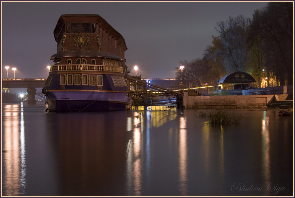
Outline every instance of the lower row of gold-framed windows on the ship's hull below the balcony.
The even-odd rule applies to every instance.
[[[52,77],[52,76],[51,76]],[[49,79],[51,81],[51,79]],[[114,86],[127,86],[123,76],[112,76]],[[60,74],[60,85],[96,85],[102,86],[102,75]]]

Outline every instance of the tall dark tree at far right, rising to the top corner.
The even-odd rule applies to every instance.
[[[293,2],[269,2],[256,10],[248,33],[266,75],[276,76],[280,85],[293,84]]]

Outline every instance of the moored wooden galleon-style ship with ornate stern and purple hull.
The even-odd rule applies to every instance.
[[[57,53],[42,92],[48,111],[125,110],[124,38],[101,16],[65,14],[54,29]]]

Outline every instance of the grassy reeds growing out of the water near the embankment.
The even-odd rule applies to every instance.
[[[230,114],[224,110],[199,112],[199,117],[209,117],[208,123],[211,125],[230,125],[239,124],[242,119],[241,115]]]

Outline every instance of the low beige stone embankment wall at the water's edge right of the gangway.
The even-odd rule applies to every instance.
[[[236,109],[266,106],[275,100],[275,95],[189,96],[184,92],[183,106],[185,109]]]

